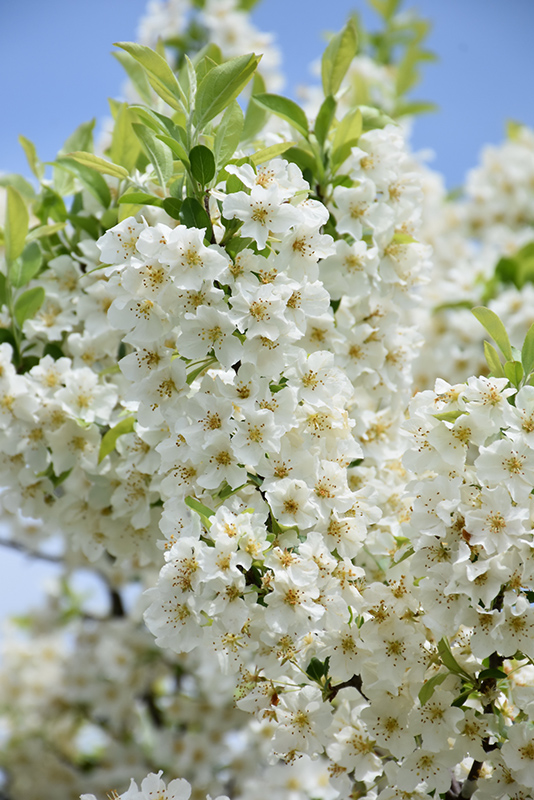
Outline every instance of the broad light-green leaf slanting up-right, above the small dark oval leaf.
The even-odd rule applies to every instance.
[[[260,57],[238,56],[214,67],[201,81],[196,96],[194,122],[199,130],[235,100],[260,63]]]

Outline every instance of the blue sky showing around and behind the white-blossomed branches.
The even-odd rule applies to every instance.
[[[415,96],[439,104],[421,117],[413,143],[431,148],[434,166],[449,186],[474,166],[481,146],[502,140],[506,119],[534,125],[534,2],[532,0],[416,0],[433,22],[429,64]],[[145,0],[0,0],[0,171],[24,172],[19,133],[41,158],[53,159],[80,123],[107,115],[123,73],[110,56],[114,41],[135,38]],[[257,24],[277,35],[283,51],[286,92],[309,79],[308,65],[323,49],[325,31],[339,29],[363,0],[263,0]],[[372,20],[373,15],[365,14]],[[27,607],[50,575],[46,564],[0,551],[0,617]],[[23,587],[21,589],[21,587]]]

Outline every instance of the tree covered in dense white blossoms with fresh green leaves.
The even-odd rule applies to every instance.
[[[64,577],[6,644],[5,794],[526,799],[534,329],[519,350],[477,306],[489,376],[429,360],[438,314],[454,338],[529,291],[528,200],[500,234],[484,170],[433,191],[396,0],[332,37],[305,108],[250,5],[154,4],[98,154],[80,126],[49,180],[22,139],[39,189],[7,187],[6,543]],[[452,228],[494,271],[435,309]]]

